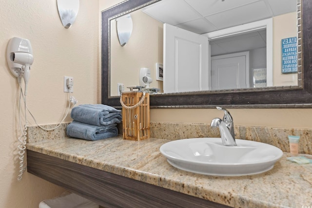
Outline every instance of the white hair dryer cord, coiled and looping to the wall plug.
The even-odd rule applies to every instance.
[[[67,108],[67,112],[65,114],[65,116],[63,117],[63,119],[59,122],[59,125],[52,128],[52,129],[46,129],[46,128],[43,128],[42,126],[40,126],[36,119],[35,119],[35,116],[30,112],[30,110],[28,109],[27,107],[27,103],[26,103],[26,95],[23,94],[23,90],[22,90],[22,87],[21,87],[21,84],[20,84],[20,81],[18,81],[19,85],[20,85],[20,99],[21,97],[23,97],[23,101],[24,101],[24,112],[25,112],[25,124],[24,126],[22,127],[22,124],[21,124],[21,117],[20,117],[20,100],[19,100],[19,117],[20,117],[20,132],[21,132],[21,136],[18,138],[20,144],[18,145],[18,150],[19,150],[19,159],[20,159],[20,170],[19,170],[19,175],[18,175],[18,181],[21,180],[22,178],[22,175],[23,175],[23,172],[26,170],[26,166],[24,164],[24,155],[25,155],[25,150],[26,150],[26,139],[27,139],[27,126],[28,126],[28,121],[27,121],[27,115],[26,115],[26,111],[28,111],[30,113],[30,115],[32,116],[32,118],[34,119],[35,123],[37,124],[37,126],[39,126],[41,129],[45,130],[45,131],[52,131],[52,130],[55,130],[57,129],[61,124],[62,122],[65,120],[66,116],[68,115],[69,113],[69,110],[70,110],[70,104],[73,103],[74,105],[76,105],[77,103],[77,100],[75,99],[74,96],[71,96],[71,92],[69,93],[69,97],[70,97],[70,102],[68,104],[68,108]]]

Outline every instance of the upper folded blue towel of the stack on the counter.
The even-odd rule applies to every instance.
[[[103,104],[78,105],[72,109],[71,117],[76,121],[96,126],[122,121],[120,110]]]

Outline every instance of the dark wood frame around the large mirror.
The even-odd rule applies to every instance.
[[[109,33],[110,19],[151,0],[128,0],[102,12],[101,34],[101,69],[102,69],[102,104],[121,108],[119,97],[111,97],[109,89]],[[157,1],[157,0],[154,0]],[[239,89],[231,91],[202,91],[176,94],[154,94],[150,97],[151,108],[312,108],[312,1],[301,0],[301,22],[298,26],[298,44],[302,43],[303,59],[298,66],[298,77],[303,78],[303,85],[294,87],[269,87],[253,91]],[[300,18],[298,20],[300,22]],[[302,37],[302,38],[301,38]],[[303,69],[303,72],[302,72]],[[299,78],[300,79],[300,78]],[[261,91],[265,90],[265,91]]]

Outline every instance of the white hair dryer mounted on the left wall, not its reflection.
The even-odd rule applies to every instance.
[[[23,38],[11,38],[6,50],[6,58],[9,68],[12,74],[18,78],[18,82],[21,82],[21,77],[24,78],[25,95],[27,95],[30,65],[34,62],[30,41]]]

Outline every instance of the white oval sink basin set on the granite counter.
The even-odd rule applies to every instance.
[[[252,175],[271,170],[283,152],[269,144],[236,139],[223,146],[221,138],[180,139],[163,144],[160,152],[174,167],[207,175]]]

